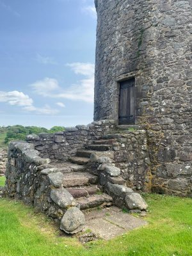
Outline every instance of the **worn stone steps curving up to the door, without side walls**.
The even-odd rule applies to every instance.
[[[49,168],[57,168],[61,173],[65,173],[62,176],[63,181],[61,185],[81,205],[81,210],[93,207],[106,207],[113,204],[113,198],[102,191],[102,186],[99,184],[99,175],[93,175],[88,172],[87,166],[90,163],[92,154],[102,156],[106,152],[113,151],[113,148],[116,147],[118,134],[128,132],[125,129],[127,129],[127,125],[125,127],[124,125],[120,125],[118,131],[106,134],[100,140],[93,140],[92,144],[78,150],[76,156],[70,157],[68,162],[52,161],[49,164]],[[111,170],[109,170],[109,176],[111,176],[109,177],[109,181],[113,184],[124,185],[125,180],[119,174],[114,174],[116,167],[111,167]],[[107,169],[106,172],[108,172]],[[111,172],[113,173],[111,174]]]

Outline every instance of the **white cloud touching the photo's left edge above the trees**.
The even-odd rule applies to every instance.
[[[28,95],[18,91],[0,92],[0,102],[7,102],[15,106],[31,106],[33,104],[33,100]]]

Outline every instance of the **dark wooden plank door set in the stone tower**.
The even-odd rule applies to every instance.
[[[134,124],[134,84],[135,79],[120,82],[118,124]]]

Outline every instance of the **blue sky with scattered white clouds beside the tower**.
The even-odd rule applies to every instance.
[[[93,120],[93,0],[0,0],[0,126]]]

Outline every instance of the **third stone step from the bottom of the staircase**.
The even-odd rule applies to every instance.
[[[64,188],[89,186],[90,184],[97,184],[98,177],[88,172],[74,172],[66,173],[63,179]]]

